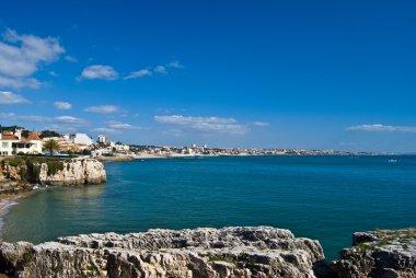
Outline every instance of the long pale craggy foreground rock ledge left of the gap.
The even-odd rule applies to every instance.
[[[315,277],[317,241],[269,227],[150,230],[0,246],[11,277]]]

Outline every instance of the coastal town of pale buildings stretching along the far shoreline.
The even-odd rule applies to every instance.
[[[151,158],[221,157],[221,155],[372,155],[373,152],[334,150],[210,148],[208,146],[142,146],[111,140],[104,135],[95,139],[86,134],[60,135],[53,130],[30,131],[24,127],[0,128],[0,155],[82,155],[102,161],[128,161]],[[50,143],[53,147],[50,147]]]

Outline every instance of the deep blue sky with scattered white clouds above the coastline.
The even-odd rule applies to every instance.
[[[416,151],[414,1],[7,1],[0,123]]]

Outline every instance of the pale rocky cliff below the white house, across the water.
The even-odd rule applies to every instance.
[[[0,161],[0,192],[31,189],[33,185],[100,184],[103,163],[94,159],[7,158]]]

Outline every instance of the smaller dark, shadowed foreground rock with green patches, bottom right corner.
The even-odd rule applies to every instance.
[[[353,244],[332,263],[337,277],[416,277],[416,229],[355,233]]]

